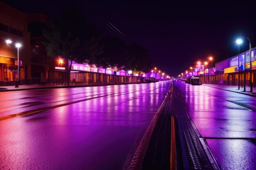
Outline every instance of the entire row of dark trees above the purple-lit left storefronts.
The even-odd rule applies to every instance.
[[[68,9],[61,18],[52,18],[43,28],[43,35],[47,39],[44,42],[47,55],[71,61],[68,73],[72,61],[134,73],[148,72],[152,68],[147,49],[104,36],[102,29],[90,24],[80,11]]]

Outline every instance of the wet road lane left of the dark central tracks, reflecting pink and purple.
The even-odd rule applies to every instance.
[[[1,92],[0,170],[125,169],[169,86]]]

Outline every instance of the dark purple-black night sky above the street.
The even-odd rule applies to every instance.
[[[106,35],[116,36],[127,44],[144,46],[155,66],[175,77],[195,66],[198,60],[207,61],[209,55],[214,57],[213,63],[237,55],[237,38],[247,36],[252,48],[256,46],[256,2],[253,1],[74,0],[52,3],[50,0],[24,0],[15,5],[25,13],[39,13],[44,7],[48,15],[54,16],[66,7],[81,9]],[[118,35],[108,27],[103,22],[108,23],[106,20],[121,33],[115,30]],[[240,52],[249,49],[249,41],[243,41]]]

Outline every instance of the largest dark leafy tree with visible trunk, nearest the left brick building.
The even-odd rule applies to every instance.
[[[103,53],[103,46],[99,45],[100,30],[88,24],[85,16],[79,11],[65,10],[61,19],[47,23],[43,35],[48,40],[44,42],[47,55],[70,60],[68,86],[73,61],[90,62],[95,56]]]

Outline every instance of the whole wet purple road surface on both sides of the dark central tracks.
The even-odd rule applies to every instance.
[[[2,92],[0,117],[31,114],[0,121],[0,169],[125,169],[169,85]],[[256,98],[184,82],[174,87],[220,168],[255,170]]]

